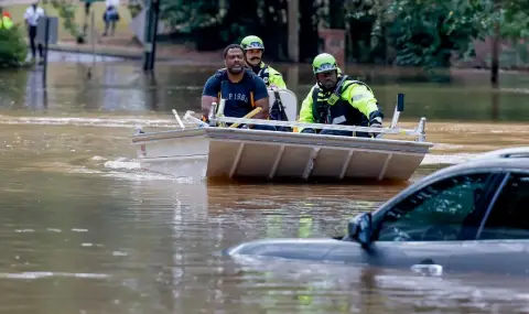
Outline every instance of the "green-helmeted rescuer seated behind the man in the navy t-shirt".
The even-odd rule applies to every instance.
[[[262,62],[264,45],[258,36],[246,36],[240,42],[245,50],[246,64],[256,73],[267,87],[287,88],[281,73]]]

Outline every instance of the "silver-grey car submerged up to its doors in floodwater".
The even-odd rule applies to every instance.
[[[328,239],[266,239],[229,256],[529,274],[529,148],[493,151],[408,186]]]

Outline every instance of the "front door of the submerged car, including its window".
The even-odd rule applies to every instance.
[[[471,172],[440,178],[395,202],[374,218],[370,264],[450,270],[450,258],[474,239],[498,174]],[[433,268],[431,266],[434,266]]]

